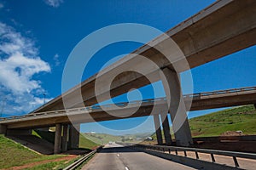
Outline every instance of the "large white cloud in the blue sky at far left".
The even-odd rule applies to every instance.
[[[3,112],[27,112],[42,105],[45,90],[33,76],[50,72],[50,67],[34,42],[0,22],[0,57],[0,94],[8,99]]]

